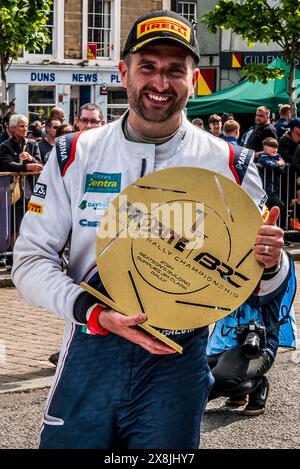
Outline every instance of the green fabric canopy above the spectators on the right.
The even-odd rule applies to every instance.
[[[278,111],[280,104],[288,104],[287,94],[289,65],[276,58],[270,68],[282,68],[284,78],[269,80],[265,85],[259,81],[250,83],[245,79],[235,86],[217,91],[208,96],[190,99],[187,103],[188,117],[205,114],[232,112],[235,114],[255,113],[258,106],[267,106],[271,112]],[[300,96],[300,70],[296,69],[296,96]]]

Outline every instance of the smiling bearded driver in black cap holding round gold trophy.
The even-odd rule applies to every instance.
[[[35,194],[33,201],[43,204],[44,213],[29,213],[23,222],[13,278],[29,302],[66,320],[42,448],[198,448],[213,382],[205,353],[208,328],[169,331],[183,345],[180,355],[136,328],[146,314],[123,316],[79,286],[85,281],[101,288],[98,220],[115,196],[143,175],[174,166],[208,168],[237,177],[263,205],[251,152],[238,176],[234,149],[199,132],[183,113],[198,61],[194,30],[185,18],[167,10],[139,18],[119,65],[129,111],[101,128],[60,137],[56,157],[39,179],[46,195],[41,200]],[[279,210],[272,210],[255,247],[257,259],[273,271],[272,280],[263,280],[268,293],[283,281],[288,262],[283,232],[276,227]],[[69,236],[67,276],[59,253]]]

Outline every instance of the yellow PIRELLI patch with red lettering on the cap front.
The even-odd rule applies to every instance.
[[[137,27],[137,39],[145,34],[155,33],[156,31],[169,31],[190,42],[191,28],[185,23],[167,16],[152,18],[140,23]]]

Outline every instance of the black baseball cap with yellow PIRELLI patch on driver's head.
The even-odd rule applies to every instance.
[[[174,41],[185,47],[195,58],[200,60],[198,41],[192,24],[183,16],[170,10],[157,10],[141,16],[131,28],[123,57],[134,54],[154,41]]]

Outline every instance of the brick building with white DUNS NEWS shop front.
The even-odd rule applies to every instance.
[[[170,0],[54,0],[51,43],[43,53],[24,51],[9,70],[17,112],[45,118],[56,105],[73,122],[82,104],[95,102],[108,121],[119,117],[127,97],[118,63],[129,29],[143,13],[161,8],[170,8]]]

